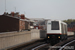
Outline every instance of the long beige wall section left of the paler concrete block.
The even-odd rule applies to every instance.
[[[0,34],[0,49],[28,42],[30,40],[30,31]]]

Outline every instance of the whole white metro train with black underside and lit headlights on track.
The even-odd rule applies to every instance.
[[[67,24],[59,20],[48,20],[46,42],[56,43],[64,39],[67,39]]]

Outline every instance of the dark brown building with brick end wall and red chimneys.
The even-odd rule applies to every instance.
[[[29,22],[25,20],[25,16],[18,13],[4,13],[0,15],[0,32],[22,31],[29,29]]]

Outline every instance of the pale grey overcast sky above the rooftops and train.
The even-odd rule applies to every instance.
[[[6,0],[6,12],[15,11],[28,18],[75,19],[75,0]],[[0,0],[0,15],[5,12],[5,0]]]

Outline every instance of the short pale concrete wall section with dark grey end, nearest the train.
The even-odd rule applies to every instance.
[[[40,38],[46,38],[45,30],[39,30],[39,29],[31,30],[31,39],[40,39]]]

